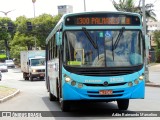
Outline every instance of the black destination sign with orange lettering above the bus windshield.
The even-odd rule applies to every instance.
[[[131,15],[79,15],[70,16],[66,18],[65,25],[79,26],[79,25],[140,25],[138,16]]]

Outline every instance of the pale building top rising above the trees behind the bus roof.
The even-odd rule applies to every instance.
[[[71,5],[60,5],[58,6],[58,14],[73,13],[73,6]]]

